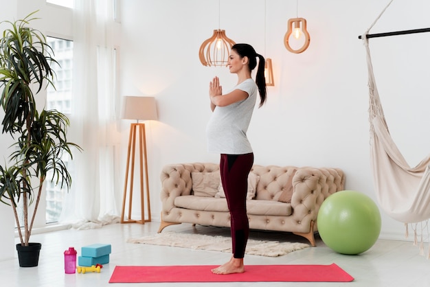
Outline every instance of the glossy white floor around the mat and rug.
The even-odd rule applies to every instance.
[[[216,251],[194,251],[179,247],[151,246],[126,243],[127,238],[154,234],[158,222],[139,224],[106,225],[102,229],[64,230],[32,236],[33,242],[43,244],[37,267],[19,267],[18,259],[0,262],[0,286],[430,286],[430,260],[418,254],[411,242],[378,240],[374,246],[361,255],[335,253],[324,242],[317,240],[316,247],[294,251],[280,257],[247,255],[245,264],[332,264],[336,263],[348,272],[354,281],[350,283],[170,283],[170,284],[109,284],[109,278],[116,265],[213,265],[223,264],[228,253]],[[228,234],[228,229],[192,225],[174,225],[165,230],[188,233]],[[290,233],[252,231],[253,239],[267,239],[306,242]],[[81,246],[94,243],[109,243],[112,253],[109,264],[101,273],[65,274],[63,252],[69,246],[80,251]],[[13,247],[12,247],[13,248]]]

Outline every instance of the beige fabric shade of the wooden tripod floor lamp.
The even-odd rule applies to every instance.
[[[158,119],[155,97],[124,97],[123,119]]]

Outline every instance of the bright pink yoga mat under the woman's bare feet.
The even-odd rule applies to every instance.
[[[246,265],[245,273],[216,275],[214,265],[115,266],[109,283],[150,282],[351,282],[354,280],[336,264],[330,265]]]

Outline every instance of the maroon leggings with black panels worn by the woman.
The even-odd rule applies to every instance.
[[[230,211],[233,257],[243,258],[249,236],[247,216],[248,174],[253,165],[253,153],[221,154],[220,176]]]

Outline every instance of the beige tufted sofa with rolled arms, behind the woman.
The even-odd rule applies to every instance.
[[[196,196],[193,178],[198,173],[219,173],[216,163],[170,164],[161,171],[161,224],[191,223],[229,227],[225,198],[209,192]],[[250,229],[287,231],[307,238],[315,246],[319,207],[330,195],[343,190],[345,176],[338,168],[296,168],[293,166],[253,165],[258,177],[255,197],[247,200]],[[195,187],[196,188],[196,187]],[[209,190],[209,187],[208,187]],[[285,200],[287,194],[291,200]]]

